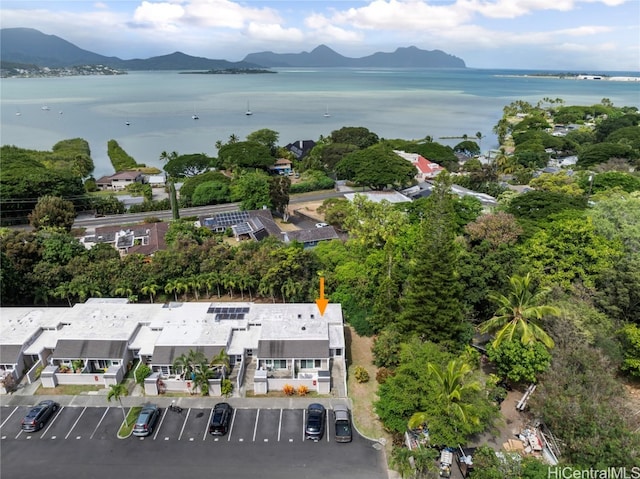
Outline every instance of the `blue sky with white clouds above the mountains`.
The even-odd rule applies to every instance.
[[[347,57],[416,46],[470,68],[640,71],[640,0],[0,0],[29,27],[122,59],[240,61],[324,44]]]

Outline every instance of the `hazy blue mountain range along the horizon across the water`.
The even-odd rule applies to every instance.
[[[182,52],[146,59],[123,60],[84,50],[56,35],[33,28],[0,29],[2,63],[64,68],[101,64],[123,70],[216,70],[272,67],[373,67],[373,68],[465,68],[462,59],[441,50],[398,48],[360,58],[340,55],[326,45],[301,53],[250,53],[242,61],[213,60]]]

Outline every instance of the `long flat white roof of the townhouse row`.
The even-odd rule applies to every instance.
[[[243,312],[219,317],[214,308]],[[213,345],[240,354],[260,339],[329,339],[330,347],[344,347],[340,304],[320,315],[315,303],[129,304],[107,298],[72,308],[0,311],[0,344],[28,344],[27,354],[54,349],[60,339],[124,340],[141,354],[152,354],[156,345]]]

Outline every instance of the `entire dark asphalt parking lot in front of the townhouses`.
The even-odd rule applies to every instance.
[[[142,404],[140,404],[142,405]],[[306,409],[236,408],[229,432],[208,433],[212,408],[166,408],[153,434],[117,437],[122,410],[61,406],[37,432],[21,430],[29,406],[0,407],[2,477],[175,479],[210,476],[259,479],[386,478],[383,448],[353,434],[353,442],[335,441],[333,411],[317,443],[304,439]],[[128,411],[125,408],[125,411]],[[116,469],[114,469],[116,468]]]

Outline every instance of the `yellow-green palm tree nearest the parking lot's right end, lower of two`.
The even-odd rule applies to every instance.
[[[467,381],[467,375],[472,371],[469,363],[452,359],[444,370],[433,363],[427,364],[429,377],[433,379],[438,403],[444,405],[446,414],[457,417],[463,423],[478,424],[480,418],[476,415],[473,405],[465,402],[470,392],[479,391],[481,385],[476,380]],[[427,412],[416,412],[409,419],[408,426],[413,429],[427,422]]]

